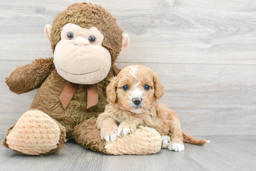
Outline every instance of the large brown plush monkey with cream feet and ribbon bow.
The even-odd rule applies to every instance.
[[[6,79],[17,94],[39,90],[3,145],[22,154],[45,155],[74,139],[106,154],[157,153],[162,139],[153,128],[140,126],[134,134],[106,143],[95,126],[95,117],[107,104],[108,80],[120,71],[116,58],[129,46],[116,18],[99,5],[75,3],[44,31],[54,58],[35,60]]]

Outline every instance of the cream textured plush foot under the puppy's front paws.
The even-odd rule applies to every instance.
[[[162,137],[155,129],[140,126],[135,133],[106,143],[105,149],[113,155],[154,154],[160,151],[161,146]]]

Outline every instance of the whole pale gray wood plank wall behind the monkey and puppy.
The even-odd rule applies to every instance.
[[[53,56],[43,28],[71,0],[0,2],[0,134],[28,110],[37,92],[4,83],[16,66]],[[161,102],[195,136],[256,135],[256,1],[94,0],[130,36],[116,62],[151,67]]]

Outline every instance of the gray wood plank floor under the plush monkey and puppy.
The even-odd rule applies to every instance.
[[[3,138],[3,136],[1,136]],[[202,137],[201,137],[202,138]],[[161,149],[153,155],[108,156],[66,143],[57,154],[44,157],[26,156],[0,147],[0,168],[15,170],[92,170],[92,171],[158,171],[158,170],[255,170],[255,137],[206,137],[211,143],[197,146],[185,143],[184,152]],[[246,140],[246,141],[245,141]],[[227,146],[228,144],[228,146]],[[13,164],[15,163],[15,165]]]

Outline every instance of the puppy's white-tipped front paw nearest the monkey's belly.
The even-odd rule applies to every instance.
[[[101,139],[105,140],[106,142],[109,141],[116,141],[117,138],[117,125],[112,126],[110,128],[106,128],[106,129],[101,129],[100,134],[101,134]]]

